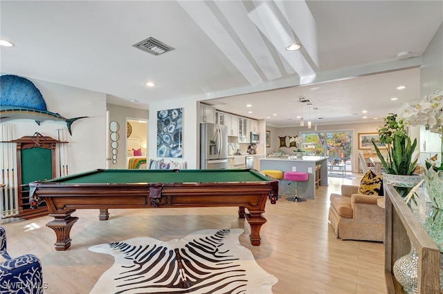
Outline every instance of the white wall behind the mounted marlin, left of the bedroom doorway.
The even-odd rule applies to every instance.
[[[57,112],[66,119],[88,117],[75,121],[71,128],[72,136],[68,135],[69,174],[105,168],[105,94],[38,79],[27,79],[42,92],[48,111]],[[57,129],[66,128],[66,124],[62,121],[42,121],[42,124],[38,126],[35,121],[29,119],[16,119],[5,124],[13,125],[13,139],[32,136],[35,132],[58,139]]]

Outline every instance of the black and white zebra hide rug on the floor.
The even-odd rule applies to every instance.
[[[202,230],[168,242],[138,237],[91,246],[115,259],[91,293],[272,293],[278,279],[239,243],[243,232]]]

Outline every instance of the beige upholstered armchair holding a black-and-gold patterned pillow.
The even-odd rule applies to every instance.
[[[341,186],[330,196],[329,222],[341,239],[383,242],[385,210],[377,205],[383,196],[357,194],[359,186]]]

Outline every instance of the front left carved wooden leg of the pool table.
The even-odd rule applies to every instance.
[[[57,237],[57,242],[54,243],[56,251],[65,251],[71,246],[72,239],[69,237],[71,228],[77,222],[78,217],[71,217],[71,214],[75,211],[69,210],[66,213],[50,213],[50,217],[54,217],[51,222],[48,222],[46,226],[52,228]]]

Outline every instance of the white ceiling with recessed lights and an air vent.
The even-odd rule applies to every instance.
[[[443,1],[0,5],[1,39],[15,44],[0,48],[3,73],[105,92],[109,102],[134,108],[160,99],[211,99],[227,112],[270,116],[272,126],[299,124],[300,97],[318,108],[317,115],[311,110],[312,120],[324,117],[318,124],[372,121],[419,99],[420,56],[443,21]],[[147,37],[175,49],[154,56],[132,47]],[[302,49],[285,51],[291,40]],[[395,60],[404,51],[411,58]]]

